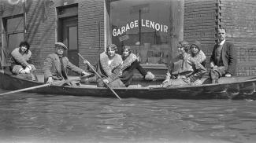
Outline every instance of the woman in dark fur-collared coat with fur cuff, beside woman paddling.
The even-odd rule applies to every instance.
[[[146,72],[143,69],[137,57],[134,53],[131,52],[130,46],[123,47],[123,54],[122,54],[123,64],[121,66],[121,81],[124,83],[125,86],[129,86],[132,83],[132,76],[134,75],[135,69],[139,71],[143,78],[146,80],[153,80],[154,75],[151,72]]]

